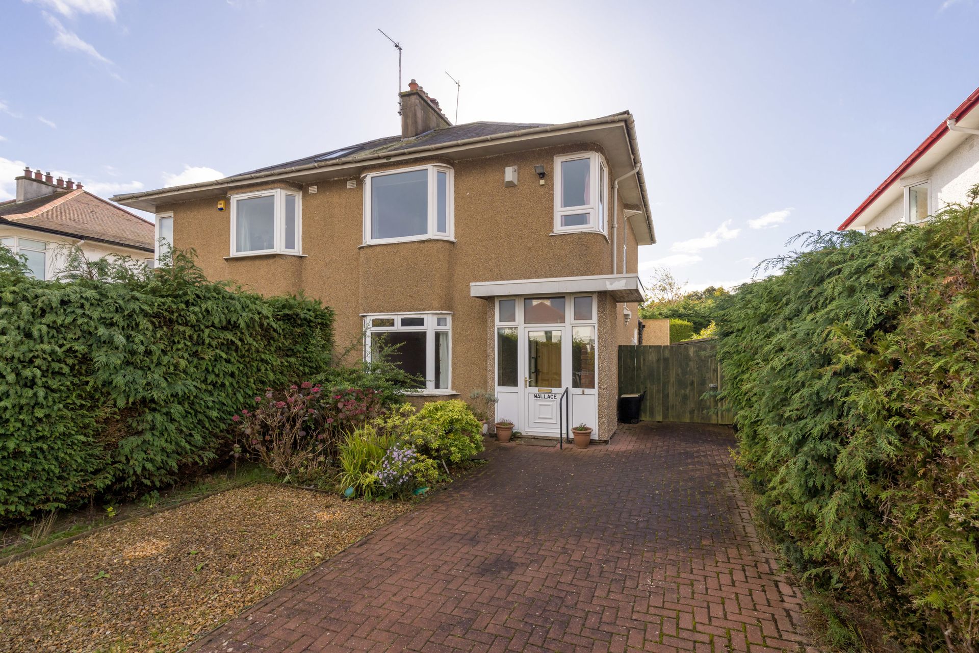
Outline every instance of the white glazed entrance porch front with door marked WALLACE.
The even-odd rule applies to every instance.
[[[498,418],[529,435],[557,437],[570,422],[599,436],[596,304],[592,294],[495,300]]]

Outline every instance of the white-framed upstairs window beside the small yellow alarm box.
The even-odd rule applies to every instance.
[[[231,196],[231,256],[302,251],[300,191],[273,189]]]

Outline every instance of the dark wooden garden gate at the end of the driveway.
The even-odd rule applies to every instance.
[[[644,420],[731,424],[733,413],[716,396],[721,390],[714,338],[676,345],[619,346],[619,394],[646,393]]]

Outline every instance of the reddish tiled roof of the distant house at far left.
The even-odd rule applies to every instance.
[[[154,251],[151,222],[84,190],[2,203],[0,223]]]

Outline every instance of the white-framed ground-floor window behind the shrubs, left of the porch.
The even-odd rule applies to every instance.
[[[365,315],[365,354],[377,360],[386,351],[392,362],[419,379],[419,393],[446,394],[451,388],[451,326],[447,312]]]

